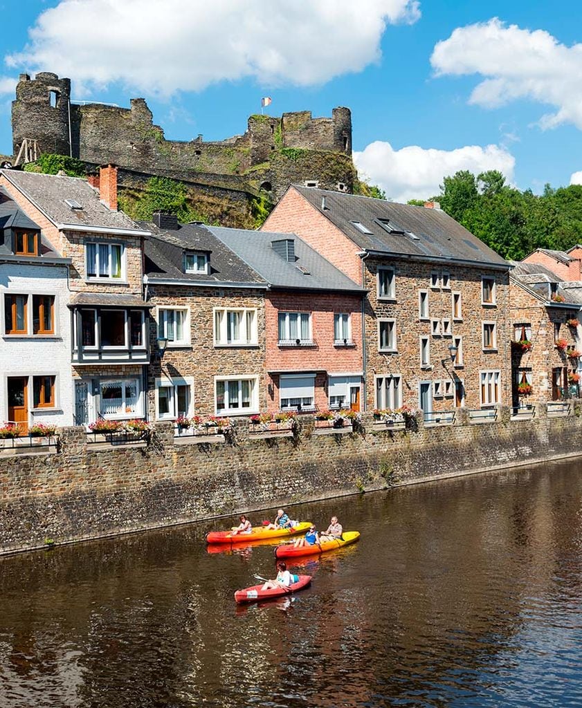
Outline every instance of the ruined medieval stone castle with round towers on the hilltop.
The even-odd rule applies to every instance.
[[[25,139],[33,140],[39,154],[215,185],[226,190],[225,199],[248,190],[274,202],[291,182],[351,191],[355,175],[349,108],[334,108],[331,118],[309,111],[251,115],[243,135],[167,140],[143,98],[133,98],[130,108],[72,103],[70,79],[41,72],[34,79],[21,74],[12,128],[15,155]]]

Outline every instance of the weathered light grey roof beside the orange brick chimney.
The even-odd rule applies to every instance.
[[[55,224],[140,231],[123,212],[112,211],[102,204],[99,190],[82,178],[20,170],[0,170],[0,174]],[[67,205],[67,199],[79,202],[82,209],[72,209]]]

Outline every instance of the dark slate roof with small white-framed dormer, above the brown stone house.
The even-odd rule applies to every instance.
[[[153,222],[140,222],[152,232],[146,239],[145,273],[148,278],[195,282],[267,283],[247,263],[230,251],[201,224],[181,224],[178,229],[159,229]],[[184,273],[184,251],[210,253],[210,273]]]

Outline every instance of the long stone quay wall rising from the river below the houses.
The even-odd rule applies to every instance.
[[[457,409],[453,424],[416,431],[370,413],[353,432],[301,416],[294,433],[250,433],[238,420],[226,438],[174,438],[156,423],[130,445],[62,428],[56,448],[0,451],[0,553],[576,456],[581,413],[579,400],[538,404],[530,419]]]

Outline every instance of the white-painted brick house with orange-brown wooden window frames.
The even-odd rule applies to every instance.
[[[73,423],[70,265],[0,187],[0,416],[23,430]]]

